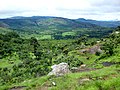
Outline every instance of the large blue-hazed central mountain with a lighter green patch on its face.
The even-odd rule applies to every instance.
[[[49,16],[33,16],[33,17],[12,17],[0,19],[0,23],[9,26],[12,29],[76,29],[76,28],[96,28],[98,25],[80,22],[74,19]],[[2,26],[2,24],[0,26]],[[63,30],[64,30],[63,29]]]

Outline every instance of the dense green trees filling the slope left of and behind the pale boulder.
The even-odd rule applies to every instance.
[[[72,40],[39,41],[34,37],[22,39],[16,32],[0,34],[0,61],[9,62],[8,66],[0,67],[0,84],[46,75],[53,64],[60,62],[79,66],[82,62],[68,55],[76,46]],[[63,57],[59,58],[60,55]]]

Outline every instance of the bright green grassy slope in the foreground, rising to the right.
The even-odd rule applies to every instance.
[[[106,57],[98,61],[95,65],[92,65],[99,56],[95,55],[77,55],[76,57],[83,59],[84,63],[89,66],[89,68],[101,68],[98,70],[88,71],[88,72],[77,72],[70,73],[63,77],[54,76],[43,76],[38,78],[32,78],[30,80],[25,80],[24,82],[18,84],[12,84],[8,86],[1,86],[0,90],[7,88],[25,86],[25,90],[120,90],[120,65],[113,65],[110,67],[104,67],[101,63],[104,61],[118,62],[120,60],[120,46],[115,49],[117,52],[111,57]],[[75,53],[71,51],[69,54]],[[85,58],[90,56],[90,60]],[[55,82],[55,86],[52,84]],[[18,87],[20,88],[20,87]]]

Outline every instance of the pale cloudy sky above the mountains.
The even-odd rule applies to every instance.
[[[120,0],[0,0],[0,18],[13,16],[120,20]]]

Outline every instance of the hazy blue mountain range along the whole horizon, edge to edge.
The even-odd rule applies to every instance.
[[[57,20],[59,20],[59,21],[61,20],[61,23],[58,23]],[[62,21],[63,21],[63,23],[62,23]],[[42,26],[39,25],[39,22]],[[70,25],[72,24],[72,26],[77,26],[75,28],[90,28],[93,26],[94,27],[98,27],[98,26],[117,27],[120,25],[120,21],[97,21],[97,20],[84,19],[84,18],[67,19],[67,18],[53,17],[53,16],[32,16],[32,17],[15,16],[15,17],[6,18],[6,19],[0,19],[0,27],[10,26],[10,28],[17,29],[17,27],[21,28],[21,27],[24,27],[24,25],[25,26],[32,25],[32,26],[36,26],[36,27],[46,26],[46,25],[42,24],[42,22],[44,24],[54,22],[54,23],[52,23],[52,25],[57,23],[57,25],[59,24],[58,26],[60,26],[60,27],[61,27],[61,25],[70,27]],[[66,24],[64,22],[66,22]],[[15,26],[16,26],[16,28],[15,28]],[[73,28],[71,28],[71,29],[73,29]]]

